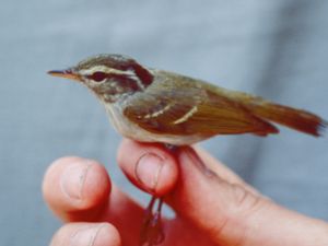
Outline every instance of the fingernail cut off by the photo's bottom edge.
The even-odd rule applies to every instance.
[[[79,229],[72,234],[70,246],[94,246],[97,235],[104,225],[91,225]]]

